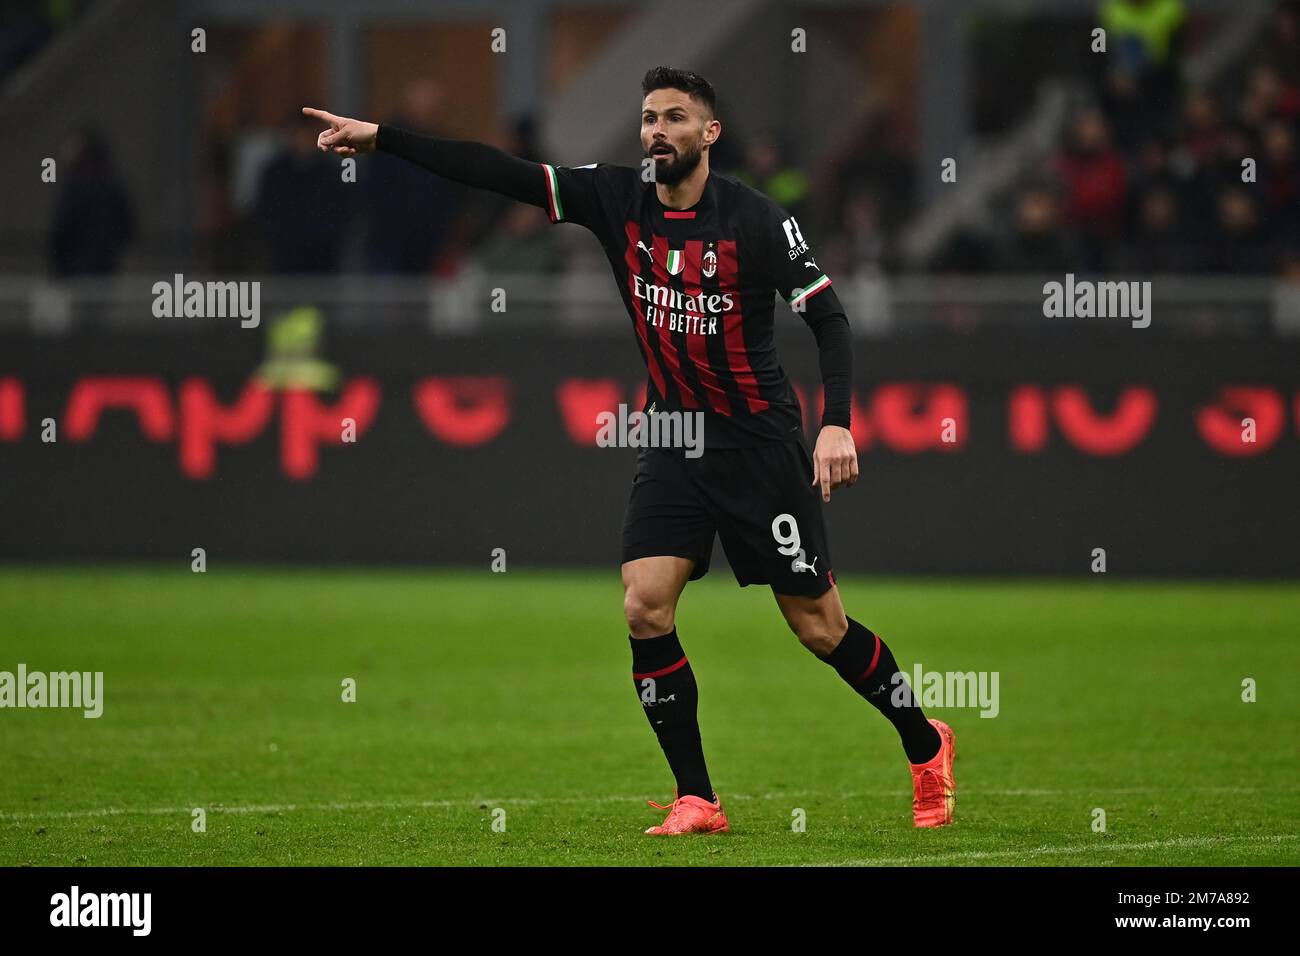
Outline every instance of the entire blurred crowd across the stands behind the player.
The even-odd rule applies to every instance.
[[[1280,0],[1254,49],[1214,88],[1184,79],[1182,0],[1104,0],[1105,64],[1049,161],[928,263],[937,272],[1131,271],[1300,277],[1300,0]],[[382,122],[447,135],[445,88],[412,82]],[[218,268],[283,273],[455,274],[467,267],[550,273],[571,239],[546,213],[458,186],[387,155],[358,165],[339,189],[339,161],[316,150],[318,124],[285,117],[260,160],[221,144],[224,189],[207,229],[224,237]],[[495,146],[538,160],[521,118]],[[224,152],[222,152],[224,151]],[[134,233],[131,203],[101,139],[65,144],[69,173],[52,243],[57,274],[116,271]],[[914,147],[878,117],[814,174],[788,159],[780,134],[727,129],[711,164],[798,216],[832,274],[893,273],[898,234],[916,212]],[[1243,164],[1244,160],[1249,163]],[[235,194],[243,194],[239,202]],[[208,203],[213,206],[213,203]]]

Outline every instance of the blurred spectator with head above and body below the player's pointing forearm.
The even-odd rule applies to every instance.
[[[422,135],[442,135],[442,86],[417,79],[402,107],[385,120]],[[367,159],[363,178],[369,206],[365,268],[376,273],[421,274],[433,268],[451,230],[462,193],[437,176],[384,152]]]

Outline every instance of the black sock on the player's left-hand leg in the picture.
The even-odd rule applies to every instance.
[[[708,783],[696,719],[699,689],[676,628],[660,637],[628,635],[628,640],[632,641],[632,683],[677,779],[677,796],[690,793],[712,803],[714,788]]]

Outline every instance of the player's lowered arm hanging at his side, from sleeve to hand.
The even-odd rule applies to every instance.
[[[853,334],[831,277],[822,271],[798,221],[772,203],[768,224],[770,268],[781,298],[816,338],[824,411],[812,451],[812,485],[822,501],[858,480],[858,450],[849,432],[853,389]]]

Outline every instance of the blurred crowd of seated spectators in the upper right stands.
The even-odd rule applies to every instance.
[[[953,272],[1300,277],[1300,3],[1216,88],[1186,87],[1180,0],[1108,0],[1106,69],[1046,169],[933,263]]]

